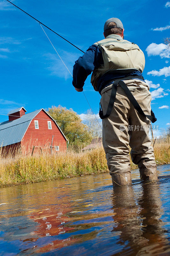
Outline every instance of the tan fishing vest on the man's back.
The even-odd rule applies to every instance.
[[[93,70],[91,84],[95,91],[97,82],[107,72],[124,70],[124,73],[131,73],[134,69],[141,73],[145,67],[145,56],[137,44],[131,43],[124,39],[105,38],[95,43],[102,51],[104,64]]]

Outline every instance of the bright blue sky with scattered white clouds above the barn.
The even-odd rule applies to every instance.
[[[12,1],[12,0],[11,0]],[[124,38],[139,45],[145,54],[143,76],[151,86],[152,110],[159,125],[155,135],[170,123],[170,2],[167,1],[45,1],[13,0],[13,3],[45,23],[83,51],[103,39],[104,22],[119,18]],[[82,92],[72,86],[72,77],[52,48],[40,25],[7,1],[0,1],[0,114],[24,106],[27,112],[52,105],[73,108],[84,114],[89,105]],[[44,28],[61,58],[72,72],[81,52]],[[99,95],[90,84],[84,92],[98,113]],[[83,115],[81,115],[83,116]],[[0,115],[0,122],[7,120]]]

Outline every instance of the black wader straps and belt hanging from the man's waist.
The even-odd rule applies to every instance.
[[[128,77],[124,77],[123,80],[130,80],[130,79],[136,79],[136,78],[144,80],[143,76],[128,76]],[[114,102],[115,102],[116,92],[117,92],[117,85],[118,84],[122,87],[122,89],[126,93],[128,99],[131,101],[131,103],[132,103],[133,107],[136,109],[136,111],[140,115],[147,117],[152,123],[156,122],[157,118],[155,117],[152,109],[151,109],[151,116],[145,115],[144,111],[139,106],[137,100],[134,98],[131,91],[128,89],[128,86],[124,83],[124,81],[119,80],[119,79],[115,80],[113,85],[112,85],[112,91],[111,91],[109,105],[108,105],[108,108],[107,108],[107,111],[106,111],[106,115],[103,115],[103,110],[101,109],[101,105],[100,105],[100,110],[99,110],[100,118],[104,119],[104,118],[110,116],[113,105],[114,105]]]

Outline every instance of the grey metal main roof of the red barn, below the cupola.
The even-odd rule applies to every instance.
[[[18,109],[20,109],[20,108],[18,108]],[[36,111],[31,112],[31,113],[25,114],[25,115],[21,116],[20,118],[15,119],[15,120],[10,121],[10,122],[5,121],[5,122],[0,123],[0,147],[20,142],[22,140],[22,138],[24,137],[24,134],[25,134],[26,130],[28,129],[28,126],[30,125],[32,119],[35,116],[37,116],[37,114],[41,110],[44,110],[44,109],[41,108],[39,110],[36,110]],[[47,112],[46,112],[46,114],[48,116],[50,116]],[[67,140],[67,138],[65,137],[64,133],[61,131],[58,124],[56,122],[55,122],[55,124],[59,128],[63,137]]]

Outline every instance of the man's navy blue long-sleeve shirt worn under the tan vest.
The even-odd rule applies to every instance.
[[[110,35],[110,36],[113,36],[113,35]],[[114,35],[114,37],[119,38],[120,36]],[[75,64],[73,67],[73,86],[75,88],[82,88],[87,76],[89,76],[95,68],[99,68],[99,66],[103,64],[104,64],[104,61],[103,61],[103,56],[100,48],[96,44],[92,44],[89,47],[89,49],[84,53],[84,55],[82,57],[79,57],[79,59],[75,61]],[[125,76],[135,76],[135,75],[142,76],[142,73],[138,70],[135,70],[133,73],[130,73],[130,74],[106,73],[98,81],[98,84],[97,84],[98,91],[99,93],[101,93],[104,87],[106,87],[109,84],[112,84],[112,81],[111,81],[112,79],[114,81],[114,79],[117,79],[117,78],[124,78]]]

